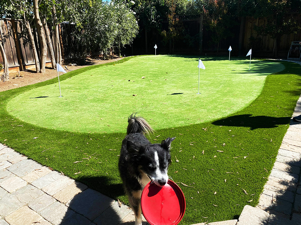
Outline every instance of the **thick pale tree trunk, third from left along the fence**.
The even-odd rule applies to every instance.
[[[36,19],[36,27],[39,34],[39,39],[41,42],[41,67],[40,67],[40,73],[45,73],[45,65],[46,65],[46,57],[47,57],[47,42],[45,39],[45,33],[43,31],[43,25],[40,19],[39,15],[39,6],[38,6],[38,0],[33,0],[33,11],[35,14]]]

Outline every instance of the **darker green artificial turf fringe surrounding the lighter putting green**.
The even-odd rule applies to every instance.
[[[238,217],[244,205],[258,203],[301,91],[301,67],[282,64],[285,69],[268,75],[261,94],[244,109],[213,122],[159,129],[150,138],[161,142],[177,137],[172,143],[169,176],[185,194],[181,224],[230,220]],[[89,69],[67,73],[61,80]],[[127,203],[117,170],[124,133],[46,129],[7,112],[12,98],[54,82],[57,79],[0,93],[0,142]]]

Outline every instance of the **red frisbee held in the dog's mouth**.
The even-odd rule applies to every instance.
[[[151,225],[176,225],[185,213],[185,197],[180,187],[168,180],[163,187],[149,182],[143,189],[141,209]]]

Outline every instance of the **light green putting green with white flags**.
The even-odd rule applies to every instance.
[[[191,56],[141,56],[98,67],[18,95],[7,110],[45,128],[78,132],[125,132],[127,117],[139,112],[156,130],[218,119],[250,104],[277,62]],[[145,77],[142,79],[142,77]],[[135,96],[133,96],[135,95]]]

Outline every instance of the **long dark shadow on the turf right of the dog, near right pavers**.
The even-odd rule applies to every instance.
[[[276,128],[278,125],[288,124],[289,117],[252,116],[252,114],[229,116],[219,119],[212,124],[229,127],[250,127],[251,130],[257,128]]]

